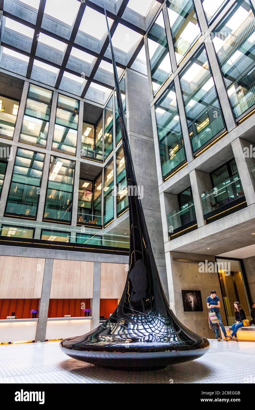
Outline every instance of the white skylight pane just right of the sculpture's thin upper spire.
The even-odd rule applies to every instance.
[[[141,38],[141,34],[119,23],[112,37],[113,47],[128,52]]]

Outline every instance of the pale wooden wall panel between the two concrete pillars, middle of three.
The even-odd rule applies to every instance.
[[[94,262],[54,259],[50,298],[93,298]]]

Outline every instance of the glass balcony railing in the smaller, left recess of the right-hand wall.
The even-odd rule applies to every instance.
[[[181,209],[175,210],[167,215],[169,236],[176,235],[181,230],[185,233],[186,229],[196,225],[196,212],[193,201],[183,205]]]

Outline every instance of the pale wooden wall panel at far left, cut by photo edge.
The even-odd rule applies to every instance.
[[[0,298],[41,298],[45,259],[0,256]]]

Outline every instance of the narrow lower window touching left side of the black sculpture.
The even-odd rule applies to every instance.
[[[116,153],[117,215],[129,206],[123,148]]]

